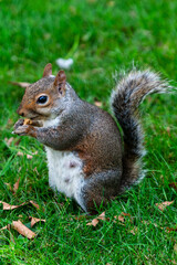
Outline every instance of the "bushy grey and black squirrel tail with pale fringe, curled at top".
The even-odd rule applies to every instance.
[[[112,93],[112,107],[124,134],[123,176],[121,191],[139,182],[143,132],[138,119],[138,105],[153,93],[167,93],[170,86],[149,71],[132,71],[125,75]]]

